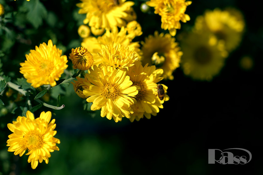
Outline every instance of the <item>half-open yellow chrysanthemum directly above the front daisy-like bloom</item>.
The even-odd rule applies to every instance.
[[[135,54],[129,47],[114,42],[101,45],[101,52],[98,52],[103,64],[120,69],[133,66],[139,60]]]

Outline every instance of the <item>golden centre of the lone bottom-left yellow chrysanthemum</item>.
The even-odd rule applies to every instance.
[[[44,145],[43,137],[44,135],[40,134],[37,130],[30,131],[24,136],[25,146],[29,150],[36,150],[42,148]]]

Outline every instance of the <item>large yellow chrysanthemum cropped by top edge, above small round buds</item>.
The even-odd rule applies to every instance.
[[[134,2],[126,0],[81,0],[77,3],[80,14],[86,14],[84,24],[90,27],[117,30],[117,27],[125,26],[127,17],[125,11],[129,11]]]

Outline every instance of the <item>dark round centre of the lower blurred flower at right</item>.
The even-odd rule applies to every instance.
[[[212,53],[204,46],[197,48],[194,52],[195,61],[199,64],[207,64],[211,61]]]

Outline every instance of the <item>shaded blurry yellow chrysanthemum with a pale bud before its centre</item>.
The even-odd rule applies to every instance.
[[[163,69],[163,77],[173,80],[173,71],[179,67],[179,62],[183,53],[180,51],[178,43],[175,42],[170,34],[158,34],[158,31],[153,35],[149,35],[142,42],[142,65],[155,65],[156,68]]]

